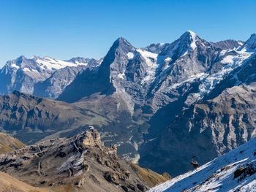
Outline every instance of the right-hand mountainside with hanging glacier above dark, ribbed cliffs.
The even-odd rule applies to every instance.
[[[241,47],[252,45],[252,37]],[[182,95],[151,118],[140,164],[176,176],[189,169],[193,155],[204,164],[255,137],[256,57],[241,47],[219,51],[208,71],[176,84],[173,91]]]

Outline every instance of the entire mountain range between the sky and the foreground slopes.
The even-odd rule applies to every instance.
[[[255,51],[256,34],[186,31],[143,48],[118,38],[101,61],[22,56],[0,71],[0,128],[37,142],[93,124],[119,155],[176,176],[255,137]]]

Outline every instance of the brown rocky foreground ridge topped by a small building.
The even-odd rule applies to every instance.
[[[40,188],[69,186],[77,191],[146,191],[167,180],[155,172],[135,172],[132,164],[118,158],[115,146],[103,145],[96,130],[1,155],[0,170]]]

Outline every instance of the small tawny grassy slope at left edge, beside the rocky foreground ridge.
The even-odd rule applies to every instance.
[[[25,147],[18,139],[11,137],[8,134],[0,133],[0,155]]]

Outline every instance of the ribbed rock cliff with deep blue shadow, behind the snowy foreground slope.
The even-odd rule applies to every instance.
[[[141,165],[178,175],[191,169],[194,155],[204,164],[254,138],[255,93],[255,84],[239,85],[193,104],[165,128]]]

